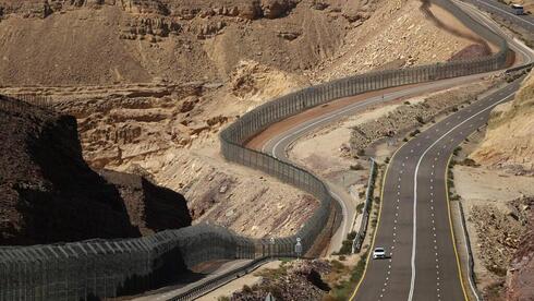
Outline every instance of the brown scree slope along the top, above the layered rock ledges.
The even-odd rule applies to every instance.
[[[241,60],[326,80],[388,63],[447,60],[473,44],[436,28],[420,5],[0,0],[0,85],[223,82]]]

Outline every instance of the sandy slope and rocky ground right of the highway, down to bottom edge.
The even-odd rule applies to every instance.
[[[462,178],[468,177],[468,183],[481,178],[486,185],[485,191],[473,195],[476,185],[457,183],[464,186],[460,196],[471,204],[468,213],[472,236],[475,232],[475,260],[484,266],[477,275],[485,293],[494,299],[534,298],[533,104],[534,72],[531,72],[514,99],[494,109],[485,136],[468,153],[466,162],[481,167],[463,167],[465,170],[458,171]],[[501,189],[494,191],[498,186]],[[503,188],[508,194],[502,194]],[[491,201],[496,195],[497,200]]]

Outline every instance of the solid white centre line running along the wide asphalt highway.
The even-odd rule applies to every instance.
[[[420,169],[421,162],[423,161],[423,158],[430,150],[430,148],[434,147],[434,145],[438,144],[444,137],[446,137],[452,131],[454,131],[456,129],[460,128],[465,122],[468,122],[471,119],[477,117],[478,115],[481,115],[481,113],[483,113],[483,112],[485,112],[485,111],[494,108],[498,104],[505,103],[514,93],[515,92],[510,93],[507,97],[505,97],[501,100],[496,101],[496,103],[487,106],[485,109],[478,111],[477,113],[472,115],[468,119],[463,120],[462,122],[460,122],[459,124],[457,124],[456,127],[453,127],[452,129],[450,129],[448,132],[446,132],[440,137],[438,137],[436,141],[434,141],[434,143],[430,144],[430,146],[428,146],[425,149],[425,152],[423,152],[423,154],[421,155],[420,159],[417,160],[417,165],[415,166],[415,172],[414,172],[414,176],[413,176],[413,178],[414,178],[413,179],[413,230],[412,230],[412,258],[411,258],[412,277],[411,277],[411,280],[410,280],[410,293],[408,296],[408,300],[409,301],[412,301],[413,300],[413,290],[415,288],[415,255],[416,255],[416,245],[417,245],[417,173],[418,173],[418,169]],[[432,189],[433,188],[430,186],[430,190]],[[435,227],[433,227],[433,231],[434,232],[436,231],[436,228]],[[436,233],[434,233],[434,234],[436,234]]]

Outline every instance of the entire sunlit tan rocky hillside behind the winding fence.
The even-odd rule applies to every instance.
[[[315,200],[226,162],[220,129],[311,83],[476,47],[429,11],[469,32],[418,0],[0,0],[0,93],[51,96],[89,166],[149,176],[195,221],[287,234]]]

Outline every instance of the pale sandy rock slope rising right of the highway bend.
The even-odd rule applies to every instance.
[[[482,145],[471,157],[477,162],[534,173],[534,71],[511,103],[498,106]]]

